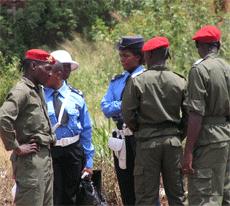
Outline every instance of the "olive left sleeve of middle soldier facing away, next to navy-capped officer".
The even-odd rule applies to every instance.
[[[133,131],[137,129],[137,110],[139,108],[139,97],[134,80],[127,82],[122,96],[122,115],[126,125]]]

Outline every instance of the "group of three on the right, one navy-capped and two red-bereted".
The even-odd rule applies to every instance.
[[[192,39],[201,59],[188,82],[166,65],[166,37],[118,43],[125,71],[111,80],[101,108],[123,140],[120,151],[120,140],[111,148],[124,205],[159,205],[160,175],[169,205],[184,205],[183,174],[189,205],[230,205],[230,66],[218,57],[217,27],[204,26]]]

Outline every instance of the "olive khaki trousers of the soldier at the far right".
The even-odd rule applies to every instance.
[[[193,168],[195,174],[188,178],[189,205],[230,205],[230,143],[196,148]]]

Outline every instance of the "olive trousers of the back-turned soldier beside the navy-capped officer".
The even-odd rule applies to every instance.
[[[169,205],[184,205],[182,145],[178,137],[137,141],[134,168],[136,205],[158,205],[162,173]]]

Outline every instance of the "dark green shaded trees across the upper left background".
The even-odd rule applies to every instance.
[[[30,0],[15,12],[0,6],[0,51],[11,60],[29,48],[54,48],[73,31],[91,38],[97,19],[111,26],[113,11],[127,16],[139,5],[136,0]]]

